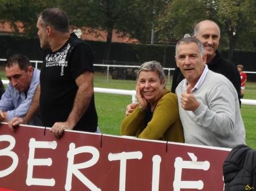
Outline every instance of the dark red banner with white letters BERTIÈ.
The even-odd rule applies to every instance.
[[[229,149],[0,124],[2,190],[224,190]]]

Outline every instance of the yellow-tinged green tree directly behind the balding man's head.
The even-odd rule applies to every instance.
[[[175,0],[159,15],[157,31],[164,41],[179,40],[185,33],[192,33],[201,20],[213,20],[221,28],[220,48],[229,47],[231,61],[237,45],[240,49],[253,47],[255,5],[254,0]]]

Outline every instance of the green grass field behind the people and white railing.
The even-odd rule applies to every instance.
[[[3,70],[0,71],[0,77],[6,79]],[[94,87],[135,90],[136,82],[133,80],[113,80],[109,76],[109,82],[107,83],[106,74],[95,73]],[[171,85],[166,87],[171,88]],[[131,96],[101,93],[95,93],[94,96],[98,113],[98,126],[102,133],[120,135],[120,126],[125,118],[126,106],[131,103]],[[256,83],[246,83],[243,98],[256,100]],[[246,143],[256,150],[256,130],[254,130],[256,128],[256,106],[242,105],[241,114],[246,129]]]

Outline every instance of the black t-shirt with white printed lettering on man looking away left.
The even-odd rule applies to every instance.
[[[40,112],[43,126],[67,121],[78,90],[75,79],[85,70],[93,73],[93,53],[89,45],[72,33],[56,52],[44,52],[40,73]],[[98,116],[94,95],[84,115],[73,130],[95,132]]]

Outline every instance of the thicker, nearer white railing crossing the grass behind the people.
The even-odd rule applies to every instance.
[[[7,85],[9,80],[2,80],[3,84]],[[137,102],[136,91],[135,90],[117,90],[108,88],[98,88],[94,87],[94,92],[103,94],[115,94],[115,95],[128,95],[131,96],[131,101]],[[241,99],[243,105],[256,105],[256,100]]]

